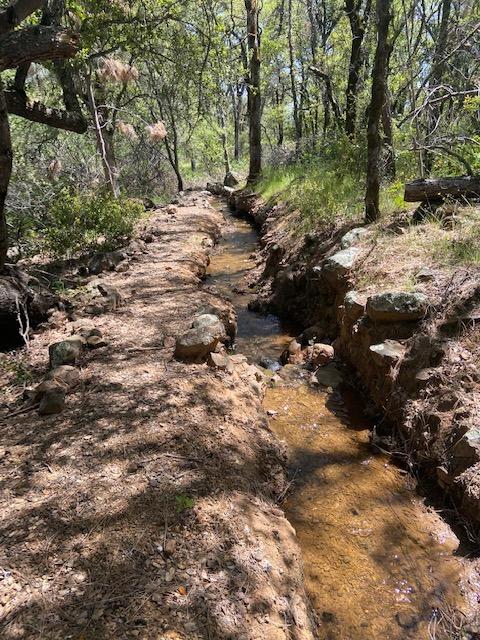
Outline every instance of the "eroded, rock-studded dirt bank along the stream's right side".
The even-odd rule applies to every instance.
[[[304,347],[310,334],[333,344],[376,406],[374,442],[420,474],[430,492],[441,489],[476,542],[478,267],[425,263],[433,229],[411,226],[408,216],[370,230],[330,225],[301,233],[298,212],[285,204],[246,192],[231,203],[261,232],[254,307],[307,329]]]

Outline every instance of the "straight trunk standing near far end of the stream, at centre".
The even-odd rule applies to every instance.
[[[250,167],[248,182],[255,182],[262,171],[262,98],[260,93],[260,32],[258,0],[245,0],[249,50],[248,116]]]

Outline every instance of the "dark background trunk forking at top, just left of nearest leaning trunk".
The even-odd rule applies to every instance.
[[[346,0],[345,9],[350,21],[352,32],[352,46],[350,49],[350,64],[348,66],[347,90],[345,96],[345,133],[349,138],[355,137],[357,124],[357,96],[358,81],[363,61],[363,39],[365,37],[365,21],[370,12],[370,0],[367,0],[365,16],[362,18],[361,0]]]

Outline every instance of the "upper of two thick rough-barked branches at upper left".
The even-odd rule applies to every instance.
[[[26,62],[72,58],[78,49],[78,35],[56,27],[26,27],[0,37],[0,71]]]

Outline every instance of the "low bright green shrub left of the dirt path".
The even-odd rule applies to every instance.
[[[143,211],[137,200],[63,189],[47,211],[45,248],[62,257],[99,247],[114,249],[131,236]]]

